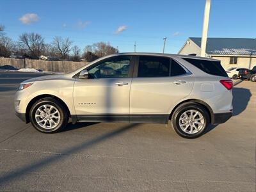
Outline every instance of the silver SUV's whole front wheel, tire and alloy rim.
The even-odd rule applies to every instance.
[[[31,124],[40,132],[53,133],[63,129],[68,123],[67,109],[56,99],[40,99],[31,107]]]

